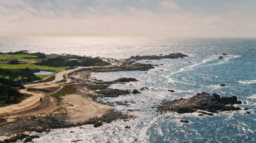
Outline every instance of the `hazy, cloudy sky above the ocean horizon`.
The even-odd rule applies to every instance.
[[[0,0],[0,36],[256,37],[256,0]]]

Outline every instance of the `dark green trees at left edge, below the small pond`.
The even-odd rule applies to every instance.
[[[0,68],[0,95],[10,103],[12,98],[20,95],[20,89],[25,89],[22,82],[31,82],[36,79],[38,77],[33,74],[33,70],[28,68],[14,71]]]

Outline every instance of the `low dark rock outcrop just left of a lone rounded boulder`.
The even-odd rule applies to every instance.
[[[102,94],[105,97],[117,97],[119,95],[125,95],[125,94],[130,94],[131,92],[128,90],[122,90],[122,89],[102,89],[100,91],[96,92],[97,94]]]

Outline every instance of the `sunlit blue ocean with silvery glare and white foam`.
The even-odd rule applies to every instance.
[[[148,87],[141,94],[98,99],[103,102],[126,100],[128,106],[116,105],[113,108],[137,118],[105,123],[99,128],[85,125],[84,128],[32,133],[40,136],[33,139],[36,143],[66,143],[77,139],[82,139],[79,141],[81,143],[256,142],[256,38],[0,37],[0,52],[19,50],[116,59],[176,52],[189,55],[184,59],[138,61],[160,65],[146,72],[93,73],[92,77],[103,81],[121,77],[139,80],[114,84],[111,86],[113,89]],[[224,53],[228,56],[218,59]],[[220,87],[220,84],[226,86]],[[157,114],[156,108],[151,108],[165,99],[188,98],[197,92],[235,95],[247,104],[235,105],[242,108],[240,111],[214,113],[215,116],[198,116],[198,113]],[[251,114],[246,114],[243,108],[250,108],[247,111]],[[182,123],[181,119],[189,123]],[[131,128],[124,128],[127,125]]]

